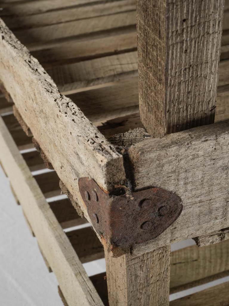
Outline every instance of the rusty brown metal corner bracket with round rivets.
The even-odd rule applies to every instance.
[[[158,237],[183,208],[179,196],[161,188],[111,196],[92,179],[82,177],[79,190],[93,227],[109,249],[129,248]]]

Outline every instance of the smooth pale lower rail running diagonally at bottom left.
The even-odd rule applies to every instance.
[[[0,160],[68,305],[103,306],[2,118],[0,118],[0,143]]]

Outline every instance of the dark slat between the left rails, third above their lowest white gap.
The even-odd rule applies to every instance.
[[[45,198],[60,195],[60,179],[55,171],[34,176]]]

